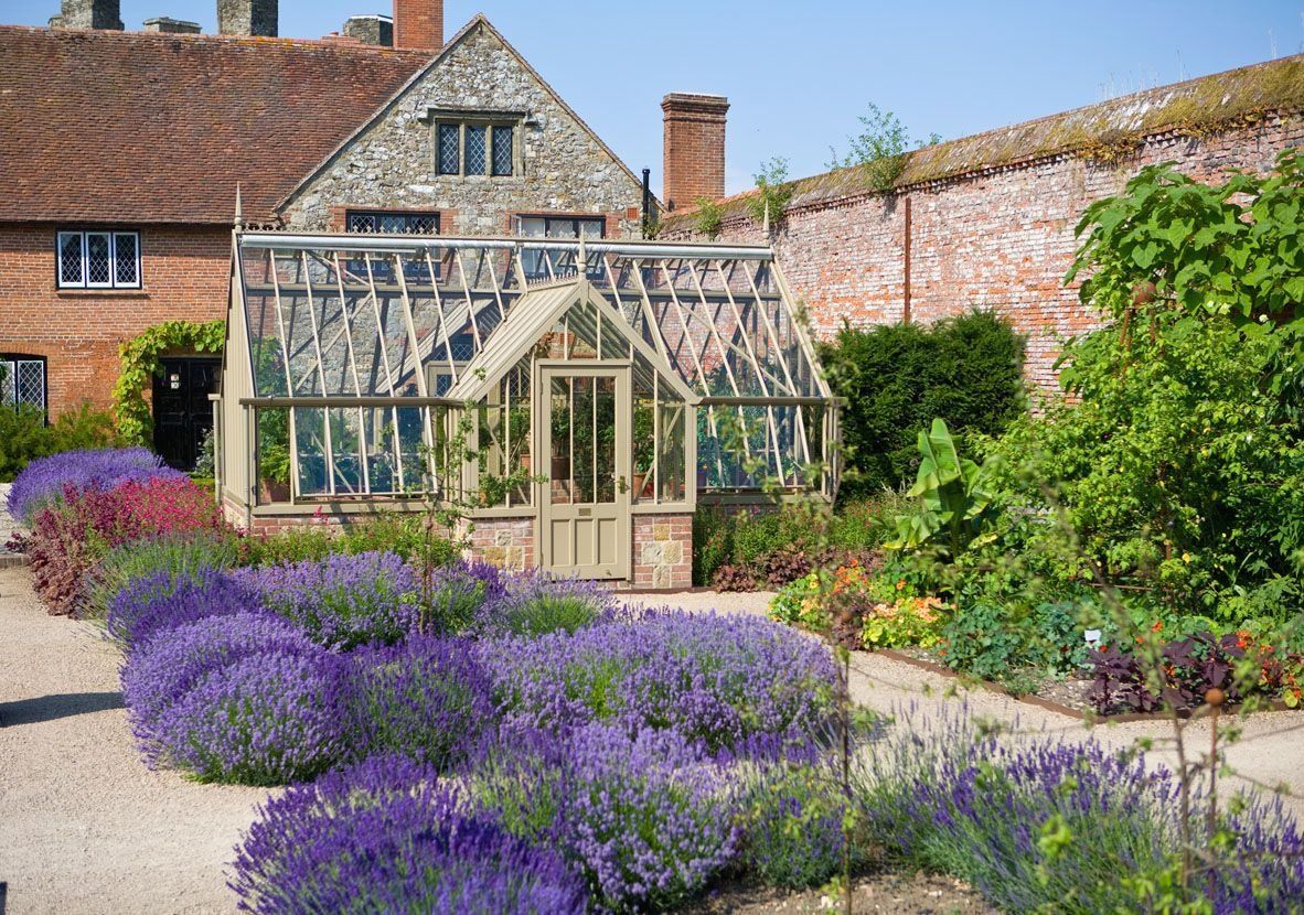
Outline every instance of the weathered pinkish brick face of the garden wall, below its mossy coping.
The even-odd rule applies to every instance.
[[[1094,326],[1063,285],[1072,262],[1073,228],[1086,206],[1118,193],[1142,166],[1175,160],[1204,180],[1227,168],[1266,171],[1277,154],[1304,146],[1304,119],[1265,124],[1197,141],[1154,137],[1119,167],[1072,156],[1009,166],[905,189],[865,193],[793,207],[773,244],[815,330],[831,336],[842,321],[855,326],[901,321],[905,287],[905,207],[911,202],[910,312],[932,322],[978,306],[999,312],[1029,335],[1028,375],[1054,383],[1059,338]],[[682,240],[691,227],[661,237]],[[760,244],[746,216],[725,223],[721,241]]]

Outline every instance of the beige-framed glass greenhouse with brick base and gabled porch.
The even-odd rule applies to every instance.
[[[698,503],[831,499],[769,248],[236,232],[218,477],[250,528],[436,501],[509,566],[677,584]]]

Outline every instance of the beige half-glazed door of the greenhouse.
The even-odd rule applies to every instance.
[[[540,566],[552,575],[623,579],[630,567],[627,365],[540,366]]]

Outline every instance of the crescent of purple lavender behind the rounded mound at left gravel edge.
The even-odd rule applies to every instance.
[[[166,752],[160,716],[206,674],[263,652],[319,654],[292,624],[265,611],[209,615],[155,631],[137,641],[121,670],[123,700],[132,730],[153,764]]]

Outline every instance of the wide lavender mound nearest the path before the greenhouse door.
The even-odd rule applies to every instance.
[[[481,650],[505,716],[542,730],[601,721],[712,752],[808,753],[833,709],[828,649],[754,617],[660,613]]]

